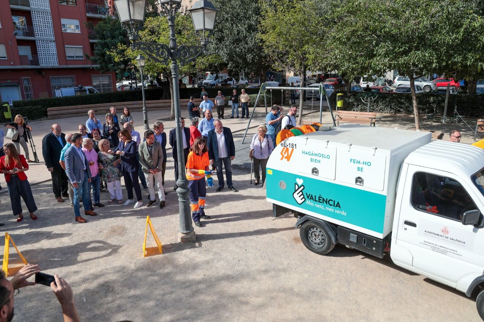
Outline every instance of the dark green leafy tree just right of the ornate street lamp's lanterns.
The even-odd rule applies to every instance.
[[[220,9],[209,44],[209,53],[223,57],[227,69],[234,73],[256,73],[265,81],[269,70],[257,37],[261,5],[257,0],[213,0]]]

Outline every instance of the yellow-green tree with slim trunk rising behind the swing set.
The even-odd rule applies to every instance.
[[[318,16],[313,1],[280,0],[261,2],[260,31],[258,36],[266,54],[266,61],[276,70],[293,72],[301,77],[305,87],[307,69],[313,57],[312,47],[323,42],[322,35],[314,32]],[[299,103],[298,124],[302,120],[302,99]]]

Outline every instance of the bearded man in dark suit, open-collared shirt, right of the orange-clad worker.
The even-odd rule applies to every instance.
[[[229,128],[223,127],[219,119],[213,121],[215,129],[208,133],[207,148],[209,152],[210,164],[215,164],[217,167],[218,188],[217,192],[224,189],[224,174],[222,173],[222,163],[225,168],[225,176],[227,178],[228,189],[234,192],[239,192],[232,184],[232,160],[235,158],[235,144],[232,136],[232,131]]]

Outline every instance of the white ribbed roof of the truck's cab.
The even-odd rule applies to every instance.
[[[462,143],[433,141],[408,155],[406,163],[470,177],[483,167],[484,150]]]

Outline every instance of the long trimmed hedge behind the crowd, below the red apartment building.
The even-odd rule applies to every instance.
[[[221,90],[225,96],[232,94],[233,88],[207,88],[207,92],[211,97],[217,95],[217,91]],[[202,92],[201,88],[180,88],[180,98],[189,99],[191,95],[196,98],[200,97]],[[240,94],[241,89],[237,88],[237,92]],[[247,88],[247,94],[257,94],[259,92],[258,88]],[[145,89],[145,97],[147,101],[159,100],[163,95],[162,88],[148,88]],[[133,102],[141,101],[142,94],[141,90],[125,90],[125,91],[115,91],[107,93],[97,93],[89,95],[80,96],[66,96],[66,97],[53,97],[45,99],[33,99],[26,101],[15,101],[13,113],[21,114],[22,116],[29,117],[30,120],[39,119],[47,117],[48,107],[59,107],[59,106],[73,106],[73,105],[88,105],[88,104],[101,104],[101,103],[114,103],[114,102]],[[1,102],[3,105],[7,102]],[[0,121],[6,121],[1,113]]]

